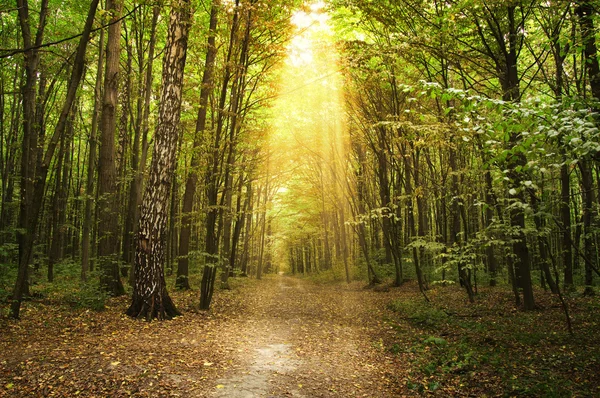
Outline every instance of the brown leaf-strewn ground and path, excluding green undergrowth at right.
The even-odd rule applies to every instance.
[[[168,322],[26,304],[0,319],[0,397],[392,397],[403,366],[382,350],[393,293],[287,276],[235,282],[209,313],[173,292]],[[387,329],[386,329],[387,328]]]

